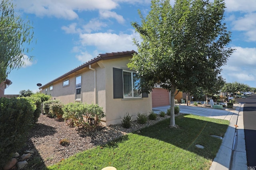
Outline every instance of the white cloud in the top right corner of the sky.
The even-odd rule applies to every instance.
[[[256,11],[255,0],[225,0],[227,12],[254,12]]]

